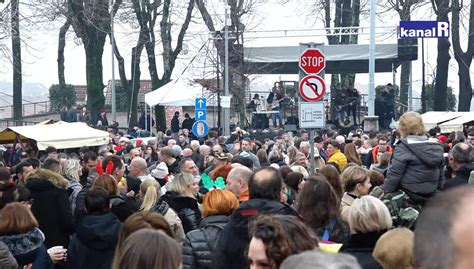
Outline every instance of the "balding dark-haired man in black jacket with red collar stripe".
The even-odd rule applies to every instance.
[[[213,268],[248,268],[245,251],[249,245],[249,223],[261,214],[298,216],[290,206],[279,202],[283,179],[272,167],[255,172],[249,180],[250,200],[231,216],[215,250]]]

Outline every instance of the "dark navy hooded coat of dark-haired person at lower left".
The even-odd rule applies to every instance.
[[[68,268],[111,268],[121,225],[110,212],[85,216],[68,248]]]

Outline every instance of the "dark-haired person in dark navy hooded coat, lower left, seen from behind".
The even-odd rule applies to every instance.
[[[92,188],[86,194],[87,215],[77,226],[68,248],[70,269],[112,266],[122,224],[110,212],[110,198],[104,188]]]

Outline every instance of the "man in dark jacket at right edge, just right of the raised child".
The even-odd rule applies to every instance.
[[[467,143],[456,144],[449,152],[449,166],[456,176],[444,184],[444,189],[465,185],[474,171],[474,151]]]

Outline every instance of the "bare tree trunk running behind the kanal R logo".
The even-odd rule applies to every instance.
[[[436,13],[436,20],[449,21],[448,14],[451,12],[449,0],[431,0],[433,10]],[[434,94],[434,110],[446,111],[447,109],[447,88],[449,72],[449,47],[448,38],[438,38],[438,57],[436,59],[436,82]]]

